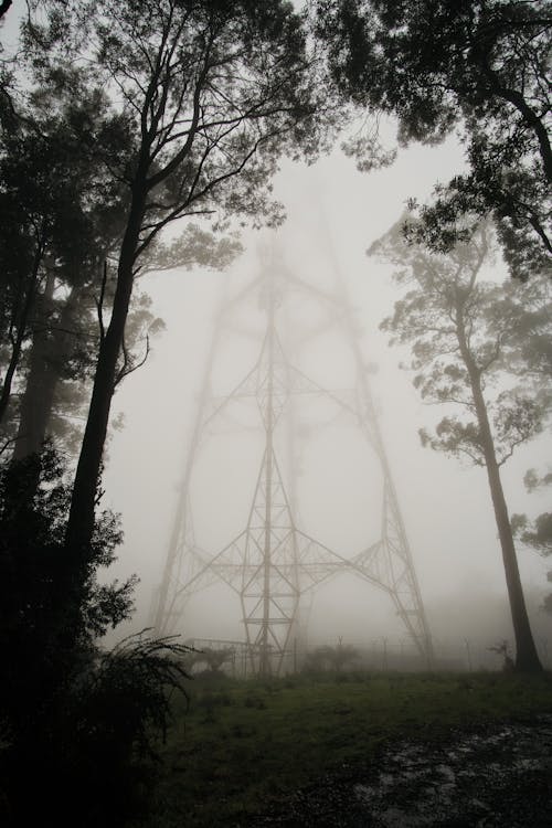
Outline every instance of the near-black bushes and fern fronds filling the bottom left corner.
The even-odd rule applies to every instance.
[[[86,555],[64,545],[70,489],[51,449],[0,471],[2,824],[119,826],[164,736],[187,648],[147,635],[98,641],[131,612],[130,578],[104,584],[118,520],[97,516]],[[33,796],[29,797],[29,779]],[[102,792],[99,796],[91,792]],[[76,810],[75,810],[76,808]]]

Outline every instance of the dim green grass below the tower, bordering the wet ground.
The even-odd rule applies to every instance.
[[[549,676],[346,675],[191,682],[176,708],[148,828],[246,824],[298,787],[360,769],[384,744],[552,712]]]

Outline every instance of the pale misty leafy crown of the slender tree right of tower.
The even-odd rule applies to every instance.
[[[407,367],[421,396],[461,412],[444,416],[433,433],[423,428],[422,443],[486,465],[488,443],[474,389],[480,390],[502,465],[517,446],[542,431],[551,411],[552,385],[539,344],[545,330],[550,337],[549,284],[534,279],[526,287],[484,280],[492,240],[485,225],[447,256],[408,244],[401,225],[402,221],[369,251],[391,262],[397,268],[395,282],[407,288],[381,328],[392,335],[392,342],[410,346],[413,357]],[[537,307],[539,323],[531,326]]]

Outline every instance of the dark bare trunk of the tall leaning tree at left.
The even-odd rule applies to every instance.
[[[141,176],[139,170],[120,248],[112,318],[99,346],[91,405],[73,485],[65,548],[83,563],[86,562],[94,532],[96,490],[115,389],[117,359],[132,294],[136,250],[140,237],[146,193],[145,185],[138,182],[144,182],[145,179],[145,170],[141,171]]]

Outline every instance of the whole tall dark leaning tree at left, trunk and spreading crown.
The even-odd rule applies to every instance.
[[[234,214],[277,223],[277,159],[318,150],[322,89],[301,18],[286,2],[108,0],[68,3],[63,15],[62,51],[85,26],[81,56],[93,62],[136,140],[132,158],[113,166],[128,205],[67,527],[68,548],[83,552],[140,261],[164,227],[192,215],[214,216],[219,226]],[[49,60],[56,54],[50,49]]]

